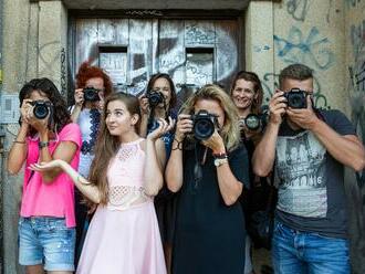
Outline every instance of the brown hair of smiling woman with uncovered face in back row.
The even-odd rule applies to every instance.
[[[230,96],[232,96],[232,92],[236,88],[237,81],[239,81],[240,78],[253,83],[253,92],[258,94],[258,97],[252,102],[251,112],[254,114],[260,113],[260,107],[263,99],[263,91],[258,74],[255,74],[254,72],[247,72],[247,71],[238,72],[232,81]]]

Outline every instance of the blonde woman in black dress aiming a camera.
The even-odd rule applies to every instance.
[[[178,116],[165,178],[178,192],[173,273],[242,274],[244,217],[238,202],[249,182],[238,113],[229,95],[206,85]]]

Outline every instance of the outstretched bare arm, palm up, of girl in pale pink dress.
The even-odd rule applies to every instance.
[[[46,170],[59,169],[70,176],[76,188],[92,202],[100,203],[101,194],[96,186],[91,185],[85,178],[74,170],[66,161],[56,159],[49,162],[31,165],[34,171],[45,172]]]

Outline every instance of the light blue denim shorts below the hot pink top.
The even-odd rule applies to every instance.
[[[75,229],[64,218],[19,219],[19,263],[45,271],[74,271]]]

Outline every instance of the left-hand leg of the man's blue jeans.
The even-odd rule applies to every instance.
[[[299,257],[294,246],[295,232],[275,222],[272,238],[272,264],[277,274],[305,274],[306,264]]]

